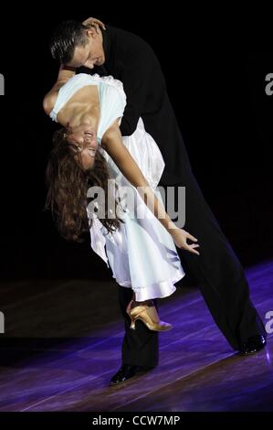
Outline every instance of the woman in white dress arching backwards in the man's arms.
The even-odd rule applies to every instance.
[[[121,81],[75,75],[72,68],[61,66],[43,106],[64,126],[54,136],[47,164],[46,207],[58,230],[68,240],[80,241],[89,229],[92,249],[110,264],[117,283],[132,289],[127,307],[131,328],[141,319],[151,330],[171,329],[160,320],[152,299],[172,295],[173,284],[184,276],[175,245],[195,254],[199,245],[164,210],[155,189],[163,156],[142,119],[131,136],[121,137],[126,106]],[[128,191],[119,203],[111,181],[118,195],[124,188]],[[88,204],[94,189],[99,194],[102,190],[105,199]]]

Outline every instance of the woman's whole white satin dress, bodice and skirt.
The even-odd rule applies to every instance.
[[[79,73],[58,91],[58,98],[50,116],[57,121],[58,112],[68,99],[80,88],[88,85],[97,85],[99,90],[100,122],[97,137],[100,145],[103,134],[117,118],[122,117],[126,105],[121,81],[111,76]],[[122,141],[156,197],[163,202],[159,190],[156,189],[163,174],[163,156],[152,136],[145,131],[142,118],[135,132],[130,136],[122,136]],[[92,220],[91,247],[108,267],[110,266],[116,282],[132,288],[137,301],[170,296],[176,289],[173,284],[184,277],[173,238],[147,208],[137,189],[121,174],[101,145],[99,150],[107,160],[110,178],[115,179],[119,188],[129,187],[127,189],[135,204],[131,205],[126,198],[121,200],[119,208],[125,222],[113,233],[108,233],[94,211],[87,208],[89,220]]]

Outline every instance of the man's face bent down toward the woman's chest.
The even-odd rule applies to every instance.
[[[76,68],[84,66],[93,69],[94,66],[101,66],[105,62],[101,31],[97,33],[95,28],[89,29],[87,38],[87,45],[75,48],[73,59],[68,62],[68,66]]]

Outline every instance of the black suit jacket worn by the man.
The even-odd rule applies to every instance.
[[[112,75],[123,83],[127,105],[121,121],[121,134],[131,135],[142,117],[146,131],[159,146],[165,168],[161,182],[183,182],[190,168],[184,141],[169,100],[163,71],[152,48],[140,37],[107,26],[102,30],[105,63],[93,70],[79,71]]]

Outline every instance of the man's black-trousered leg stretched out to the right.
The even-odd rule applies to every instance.
[[[240,349],[248,338],[266,336],[249,299],[246,275],[192,173],[181,186],[185,187],[184,229],[198,239],[200,255],[178,252],[194,275],[218,328],[234,349]]]

